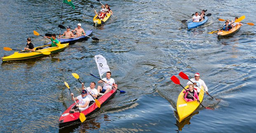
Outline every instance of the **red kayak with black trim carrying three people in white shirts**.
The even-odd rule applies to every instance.
[[[116,89],[112,89],[111,91],[109,91],[108,93],[102,95],[101,97],[98,98],[99,103],[101,105],[104,105],[105,103],[108,102],[108,100],[110,100],[110,98],[112,98],[114,96],[114,94],[116,93]],[[78,102],[78,100],[77,100]],[[75,107],[75,103],[73,103],[70,107],[68,107],[68,109],[63,112],[63,114],[61,115],[60,119],[59,119],[59,127],[63,127],[63,126],[67,126],[69,124],[72,124],[74,122],[79,122],[79,116],[80,113],[79,111],[75,111],[74,113],[70,113],[69,111],[71,109],[73,109],[73,107]],[[85,114],[85,117],[90,116],[92,113],[94,113],[96,110],[98,110],[99,107],[96,105],[96,103],[93,103],[92,105],[90,105],[86,110],[82,110],[81,113]]]

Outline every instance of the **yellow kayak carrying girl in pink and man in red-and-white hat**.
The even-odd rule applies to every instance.
[[[188,89],[188,86],[185,87]],[[204,87],[202,86],[202,90],[199,92],[199,100],[202,103],[202,100],[204,98]],[[199,107],[200,103],[195,101],[186,102],[184,99],[184,89],[181,91],[181,93],[178,95],[177,100],[177,112],[178,112],[178,122],[181,122],[183,119],[188,117],[190,114],[195,112],[197,107]]]

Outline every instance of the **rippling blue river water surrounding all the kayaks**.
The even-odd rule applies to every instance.
[[[93,29],[92,39],[76,42],[63,51],[25,61],[0,65],[0,132],[256,132],[256,38],[255,26],[244,24],[228,38],[207,34],[220,28],[221,19],[246,18],[254,23],[255,0],[108,0],[113,15],[106,25],[94,27],[96,0],[72,0],[75,10],[63,5],[65,26]],[[228,8],[226,8],[228,7]],[[187,30],[183,19],[207,9],[206,25]],[[0,48],[23,49],[26,38],[35,46],[47,42],[33,30],[59,33],[61,0],[2,0],[0,2]],[[63,32],[63,30],[61,30]],[[0,50],[0,56],[14,51]],[[59,129],[61,114],[73,102],[63,82],[75,96],[80,94],[76,72],[86,86],[97,79],[94,56],[103,55],[119,89],[99,111],[83,124]],[[170,81],[185,72],[200,73],[213,100],[205,95],[193,117],[178,123],[176,101],[182,91]]]

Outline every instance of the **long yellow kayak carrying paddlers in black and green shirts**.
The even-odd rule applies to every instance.
[[[51,54],[56,53],[56,52],[59,52],[59,51],[65,49],[66,47],[68,47],[69,43],[58,44],[58,45],[59,45],[59,47],[50,47],[51,44],[40,46],[40,47],[35,47],[35,51],[38,51],[38,52],[14,52],[14,54],[12,54],[12,55],[2,57],[2,61],[3,62],[16,61],[16,60],[24,60],[24,59],[28,59],[28,58],[36,58],[39,56],[43,56],[44,54],[42,54],[40,52],[51,52]]]

